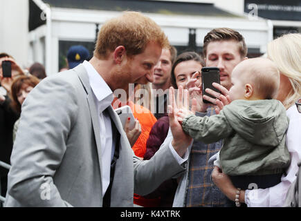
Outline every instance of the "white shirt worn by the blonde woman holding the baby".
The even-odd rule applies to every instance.
[[[286,146],[291,154],[291,164],[282,175],[281,182],[266,189],[246,190],[245,202],[250,207],[278,207],[283,206],[286,193],[296,179],[298,162],[301,160],[301,114],[298,113],[295,104],[286,111],[289,117],[289,128],[286,131]]]

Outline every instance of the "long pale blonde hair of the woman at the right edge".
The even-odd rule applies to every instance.
[[[268,44],[268,58],[291,82],[291,91],[283,105],[289,108],[301,97],[301,34],[282,35]]]

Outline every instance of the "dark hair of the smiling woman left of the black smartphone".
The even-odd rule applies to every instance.
[[[178,86],[176,85],[176,76],[174,76],[174,69],[178,64],[180,64],[183,61],[197,61],[201,64],[201,66],[205,66],[205,61],[200,55],[197,54],[197,52],[193,52],[193,51],[183,52],[181,55],[176,57],[176,61],[174,61],[174,64],[172,64],[172,72],[171,72],[172,86],[176,89],[178,88]]]

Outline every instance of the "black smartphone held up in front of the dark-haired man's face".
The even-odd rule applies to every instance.
[[[207,95],[212,98],[212,95],[206,93],[206,88],[210,88],[211,90],[215,90],[218,93],[221,93],[217,88],[212,86],[213,82],[216,82],[217,84],[220,84],[220,79],[219,79],[219,68],[217,67],[203,67],[201,69],[201,75],[202,75],[202,93],[203,95]],[[210,103],[206,99],[203,99],[204,103]]]

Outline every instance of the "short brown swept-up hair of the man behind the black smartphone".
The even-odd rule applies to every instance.
[[[246,47],[244,37],[240,35],[239,32],[231,28],[215,28],[208,32],[208,34],[204,37],[203,40],[203,56],[206,57],[207,47],[210,42],[230,40],[237,41],[237,46],[239,47],[239,54],[241,58],[246,57],[248,48]]]

